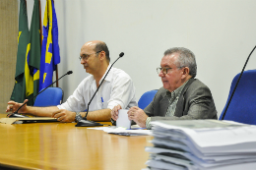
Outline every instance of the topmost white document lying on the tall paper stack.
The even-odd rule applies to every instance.
[[[167,133],[181,140],[188,137],[190,142],[195,142],[200,147],[256,142],[256,126],[231,121],[157,121],[152,122],[152,125],[159,125],[162,135]]]

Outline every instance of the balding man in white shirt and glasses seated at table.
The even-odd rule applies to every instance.
[[[99,40],[85,43],[80,52],[81,64],[91,74],[82,81],[66,102],[58,106],[32,107],[25,105],[19,113],[30,113],[34,116],[54,117],[60,122],[73,122],[85,117],[88,103],[96,92],[107,70],[110,68],[109,51],[106,44]],[[25,102],[27,99],[25,100]],[[6,112],[15,112],[22,103],[9,101]],[[104,83],[98,89],[89,106],[88,120],[110,121],[111,110],[120,105],[129,109],[136,106],[135,87],[131,78],[122,70],[111,68]]]

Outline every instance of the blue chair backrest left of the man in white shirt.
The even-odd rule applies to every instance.
[[[60,87],[48,87],[42,91],[34,101],[33,106],[56,106],[62,103],[63,90]]]

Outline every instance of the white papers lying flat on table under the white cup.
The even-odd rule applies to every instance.
[[[120,136],[150,136],[151,130],[127,130],[125,128],[116,128],[115,126],[112,127],[99,127],[99,128],[88,128],[94,130],[102,130],[108,134],[120,135]]]

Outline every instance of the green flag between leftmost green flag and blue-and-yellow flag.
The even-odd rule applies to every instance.
[[[39,2],[38,0],[34,0],[32,10],[32,23],[30,30],[31,52],[29,62],[30,70],[33,76],[33,96],[35,96],[38,93],[39,87],[39,69],[41,58],[39,11]]]

